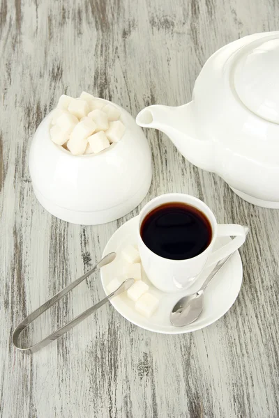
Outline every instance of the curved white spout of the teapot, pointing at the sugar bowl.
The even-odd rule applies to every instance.
[[[187,160],[206,171],[214,171],[213,142],[198,139],[193,113],[194,102],[179,107],[155,104],[137,115],[137,125],[153,127],[169,137]]]

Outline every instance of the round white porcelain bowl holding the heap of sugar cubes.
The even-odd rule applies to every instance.
[[[29,171],[38,201],[52,215],[73,224],[104,224],[126,215],[146,196],[152,177],[148,141],[133,117],[114,106],[126,131],[98,154],[72,155],[54,144],[52,112],[36,130]]]

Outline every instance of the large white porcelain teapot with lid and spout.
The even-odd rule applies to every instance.
[[[146,107],[136,121],[165,132],[246,201],[279,208],[279,31],[219,49],[197,77],[192,102]]]

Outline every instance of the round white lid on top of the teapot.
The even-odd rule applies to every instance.
[[[239,99],[260,118],[279,124],[279,38],[251,42],[239,54],[234,67]]]

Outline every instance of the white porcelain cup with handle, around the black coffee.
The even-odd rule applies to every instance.
[[[190,206],[194,206],[200,210],[211,224],[212,238],[208,247],[199,255],[188,258],[186,260],[170,260],[155,254],[151,249],[146,247],[140,235],[140,227],[142,221],[151,210],[163,205],[164,203],[182,202]],[[137,228],[137,240],[139,245],[142,266],[156,288],[167,293],[174,293],[187,288],[198,276],[202,269],[206,266],[216,264],[222,258],[229,256],[236,249],[243,245],[246,240],[246,229],[244,226],[236,224],[217,224],[213,212],[208,206],[194,196],[189,194],[169,193],[152,199],[147,203],[140,212],[140,222]],[[217,237],[234,236],[230,242],[223,247],[213,251],[213,245]]]

